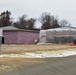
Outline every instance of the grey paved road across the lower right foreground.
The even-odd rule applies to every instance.
[[[76,75],[76,56],[45,58],[39,61],[44,63],[23,66],[0,75]]]

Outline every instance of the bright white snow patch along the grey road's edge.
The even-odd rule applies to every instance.
[[[76,51],[64,51],[63,53],[47,53],[47,52],[42,52],[41,54],[37,53],[26,53],[30,57],[66,57],[66,56],[71,56],[71,55],[76,55]]]

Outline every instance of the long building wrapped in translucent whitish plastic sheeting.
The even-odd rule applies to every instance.
[[[39,33],[39,43],[70,43],[76,41],[76,28],[60,27],[54,29],[41,30]]]

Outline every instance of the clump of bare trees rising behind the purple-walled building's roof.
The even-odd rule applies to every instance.
[[[34,29],[35,21],[36,19],[34,18],[27,19],[27,15],[22,15],[21,17],[19,17],[19,20],[14,23],[14,25],[15,27],[21,29]]]

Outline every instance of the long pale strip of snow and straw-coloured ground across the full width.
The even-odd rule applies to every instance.
[[[76,55],[76,50],[36,51],[22,54],[2,54],[0,55],[0,57],[46,58],[46,57],[67,57],[71,55]]]

